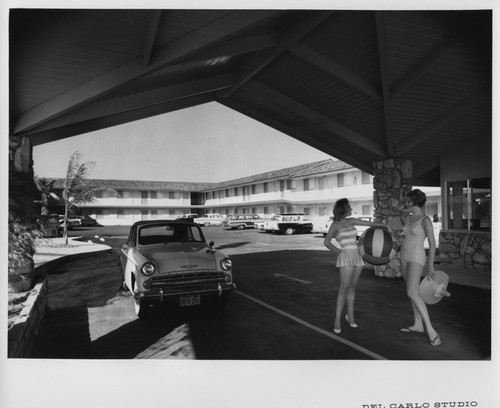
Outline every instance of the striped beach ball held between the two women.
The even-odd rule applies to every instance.
[[[370,227],[358,240],[359,252],[372,265],[385,265],[394,258],[398,243],[385,228]]]

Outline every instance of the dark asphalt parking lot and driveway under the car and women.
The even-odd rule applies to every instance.
[[[68,263],[49,275],[48,313],[34,358],[131,359],[187,324],[197,359],[223,360],[488,360],[491,291],[450,285],[452,297],[430,307],[443,345],[400,333],[411,322],[402,279],[365,269],[358,284],[359,329],[333,333],[338,288],[335,257],[317,234],[274,235],[205,227],[208,241],[233,259],[237,291],[223,313],[160,310],[139,321],[120,290],[119,248],[129,227],[80,228],[110,255]],[[104,240],[104,241],[103,241]],[[481,318],[478,319],[478,316]]]

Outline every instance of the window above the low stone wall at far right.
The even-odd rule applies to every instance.
[[[449,229],[491,231],[491,177],[446,183]]]

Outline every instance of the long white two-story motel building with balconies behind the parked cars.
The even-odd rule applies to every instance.
[[[80,205],[79,212],[100,225],[181,214],[260,214],[303,212],[326,217],[336,200],[347,197],[353,216],[373,215],[373,177],[340,160],[323,160],[220,183],[93,180],[117,192]],[[56,183],[56,188],[62,183]],[[427,214],[441,214],[440,189],[426,189]]]

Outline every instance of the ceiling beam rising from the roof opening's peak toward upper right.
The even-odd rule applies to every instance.
[[[293,17],[287,24],[287,28],[279,34],[280,43],[269,50],[255,54],[244,64],[243,69],[237,73],[234,86],[221,97],[228,98],[271,62],[286,52],[290,46],[299,41],[306,34],[314,30],[318,25],[330,17],[332,12],[311,11],[307,14],[299,14]]]

